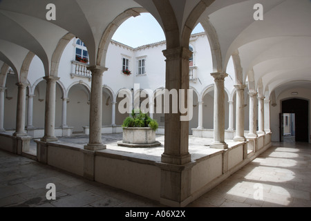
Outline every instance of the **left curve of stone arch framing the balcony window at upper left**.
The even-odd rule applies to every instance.
[[[58,67],[59,67],[59,61],[62,57],[62,53],[64,52],[64,49],[68,45],[69,41],[73,39],[75,35],[71,33],[67,33],[62,37],[62,39],[59,40],[52,56],[51,60],[51,67],[50,67],[50,76],[57,77],[58,75]]]

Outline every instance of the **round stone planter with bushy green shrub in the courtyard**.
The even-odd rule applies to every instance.
[[[131,117],[126,117],[122,124],[123,140],[118,146],[128,147],[154,147],[160,146],[156,141],[158,122],[151,119],[147,113],[133,110]]]

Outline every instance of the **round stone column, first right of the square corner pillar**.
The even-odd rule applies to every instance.
[[[211,73],[214,77],[214,142],[211,148],[226,149],[225,143],[225,77],[227,73]]]

